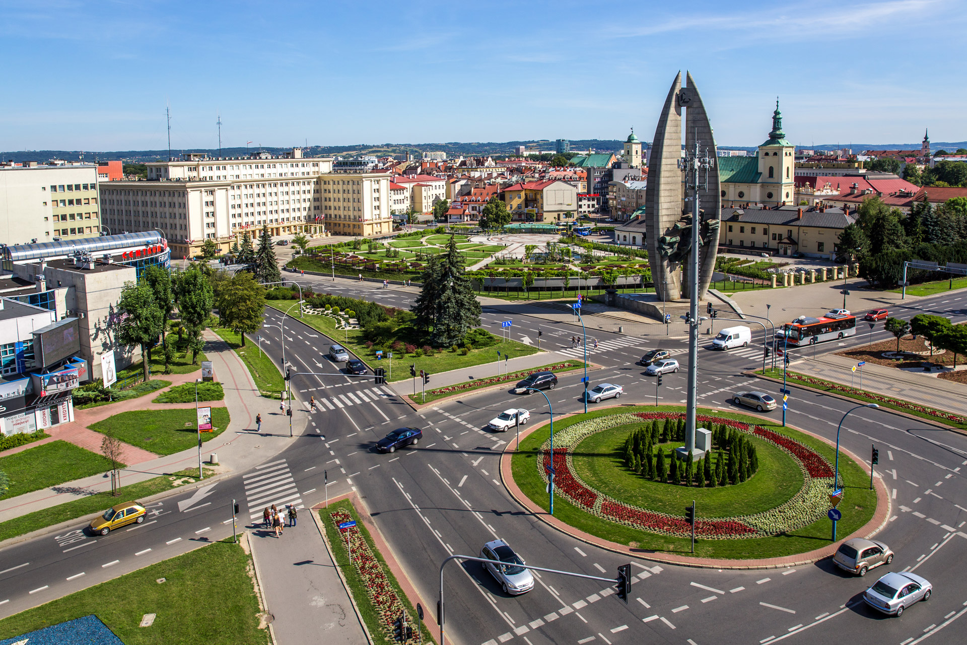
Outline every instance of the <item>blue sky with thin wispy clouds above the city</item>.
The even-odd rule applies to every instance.
[[[0,150],[644,139],[678,70],[719,145],[967,139],[962,0],[0,4]]]

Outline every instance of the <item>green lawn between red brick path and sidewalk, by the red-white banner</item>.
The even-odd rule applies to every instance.
[[[175,454],[197,445],[196,419],[194,408],[132,410],[108,417],[90,427],[154,454]],[[212,425],[215,429],[202,432],[201,440],[211,441],[219,436],[228,427],[228,422],[228,408],[212,408]]]

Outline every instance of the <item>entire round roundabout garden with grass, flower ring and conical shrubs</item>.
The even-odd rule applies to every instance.
[[[790,427],[700,410],[698,424],[711,430],[713,450],[691,464],[672,456],[683,443],[683,414],[660,406],[571,417],[555,424],[553,455],[544,425],[513,454],[513,479],[548,509],[545,469],[553,463],[558,519],[642,550],[689,552],[684,515],[692,500],[699,556],[774,557],[830,543],[832,447]],[[839,468],[846,492],[837,531],[845,536],[869,521],[876,495],[852,459],[840,454]]]

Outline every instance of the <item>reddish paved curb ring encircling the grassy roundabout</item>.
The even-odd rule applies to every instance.
[[[622,406],[608,406],[608,408],[629,407],[630,405],[637,406],[637,404],[626,404]],[[559,420],[567,419],[572,416],[574,416],[574,414],[564,415],[560,417]],[[764,421],[771,421],[771,420],[767,420],[765,417],[758,417],[757,415],[748,415],[748,416],[763,419]],[[526,438],[532,432],[537,431],[538,429],[542,428],[544,425],[547,425],[547,424],[545,423],[545,424],[536,425],[528,428],[526,432],[522,433],[522,437]],[[795,429],[813,438],[819,439],[820,441],[826,444],[831,443],[827,439],[820,437],[816,434],[813,434],[812,432],[809,432],[807,430],[803,430],[802,428],[797,427]],[[879,485],[875,488],[876,501],[877,501],[876,512],[873,513],[873,516],[870,518],[870,520],[866,522],[862,527],[860,527],[857,531],[854,531],[852,534],[845,536],[842,539],[837,540],[835,543],[829,544],[828,546],[824,546],[818,549],[813,549],[812,551],[806,551],[805,553],[797,553],[791,556],[780,556],[777,558],[762,558],[759,560],[746,560],[746,561],[719,560],[715,558],[693,558],[690,556],[677,556],[677,555],[661,555],[661,554],[658,554],[658,552],[651,552],[646,555],[646,554],[643,554],[639,549],[632,548],[626,544],[619,544],[618,542],[609,542],[607,540],[604,540],[603,538],[598,538],[597,536],[586,534],[583,531],[580,531],[579,529],[575,529],[570,524],[566,524],[565,522],[558,520],[556,517],[549,516],[546,511],[544,511],[541,507],[539,507],[537,504],[531,501],[531,499],[527,497],[524,494],[524,492],[520,490],[520,488],[517,487],[517,484],[513,481],[513,470],[512,470],[512,464],[511,464],[513,453],[511,452],[511,447],[513,446],[513,448],[516,448],[516,441],[517,440],[515,438],[510,439],[507,445],[504,447],[503,453],[501,454],[500,479],[501,479],[501,482],[504,484],[504,487],[507,488],[508,492],[511,494],[511,497],[513,497],[513,500],[517,502],[517,504],[519,504],[521,507],[523,507],[524,510],[528,511],[536,518],[540,519],[544,524],[546,524],[550,528],[560,531],[565,535],[571,536],[571,538],[575,540],[579,540],[581,542],[585,542],[586,544],[597,546],[599,548],[603,548],[605,550],[612,551],[614,553],[619,553],[621,555],[627,555],[641,560],[648,560],[651,562],[659,562],[661,564],[666,564],[666,565],[691,567],[695,569],[727,569],[727,570],[737,570],[737,571],[786,569],[789,567],[801,567],[801,566],[813,564],[824,558],[831,557],[835,553],[835,550],[836,548],[838,548],[839,544],[841,544],[842,542],[846,542],[851,538],[854,538],[854,537],[868,538],[873,535],[876,535],[880,530],[883,529],[887,521],[889,521],[890,512],[893,510],[893,505],[890,500],[890,495],[888,494],[886,489],[886,484],[883,483],[883,478],[881,477],[877,480]],[[842,453],[849,455],[849,457],[853,459],[857,464],[859,464],[861,468],[863,468],[868,472],[866,463],[862,459],[858,458],[855,454],[852,454],[846,449],[842,448],[842,446],[840,446],[839,450]],[[886,504],[884,504],[884,501],[886,501]],[[875,527],[875,528],[871,528],[871,527]],[[800,559],[795,561],[789,561],[785,559],[785,558],[794,558],[794,557],[799,557]],[[743,564],[735,564],[735,563],[743,563]]]

